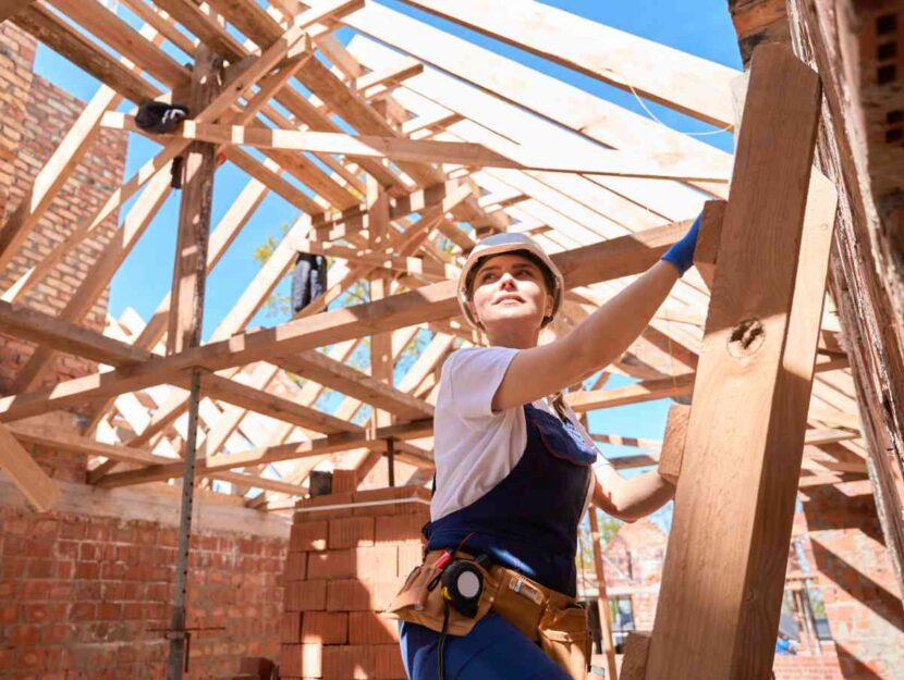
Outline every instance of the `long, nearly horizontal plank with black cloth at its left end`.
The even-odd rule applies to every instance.
[[[101,123],[114,129],[139,131],[134,118],[109,112]],[[222,145],[248,145],[261,149],[282,149],[319,153],[339,153],[351,158],[389,159],[399,163],[453,163],[474,168],[509,168],[587,175],[639,177],[644,180],[681,180],[685,182],[728,183],[728,174],[714,173],[691,163],[660,165],[631,153],[584,147],[563,153],[542,146],[525,147],[500,141],[501,152],[468,141],[435,141],[345,135],[341,133],[271,129],[242,125],[185,121],[179,132],[161,135],[169,138],[199,139]]]

